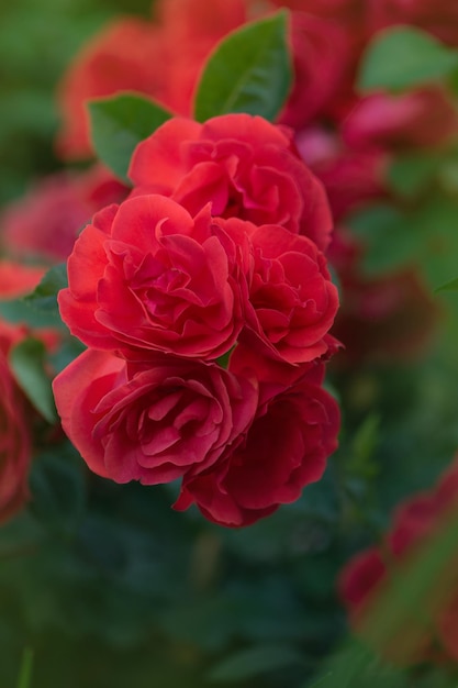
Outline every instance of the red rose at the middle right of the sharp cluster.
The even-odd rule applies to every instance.
[[[338,308],[325,257],[312,241],[284,228],[246,228],[254,255],[247,329],[288,363],[322,356]]]

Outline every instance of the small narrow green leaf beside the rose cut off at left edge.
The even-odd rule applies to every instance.
[[[34,337],[23,340],[10,352],[10,364],[20,387],[43,418],[55,423],[57,413],[45,363],[46,347]]]

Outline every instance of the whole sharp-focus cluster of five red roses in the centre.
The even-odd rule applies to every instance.
[[[169,120],[130,176],[68,259],[60,314],[89,349],[54,381],[64,430],[101,476],[182,478],[177,509],[253,523],[336,447],[324,190],[288,132],[247,114]]]

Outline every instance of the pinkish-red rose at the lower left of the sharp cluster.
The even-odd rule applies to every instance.
[[[63,428],[94,473],[153,485],[208,469],[252,422],[257,392],[216,364],[86,351],[54,380]]]

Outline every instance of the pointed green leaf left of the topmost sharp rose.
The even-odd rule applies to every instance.
[[[130,184],[127,170],[134,148],[172,113],[154,100],[127,92],[92,100],[88,108],[98,157]]]

